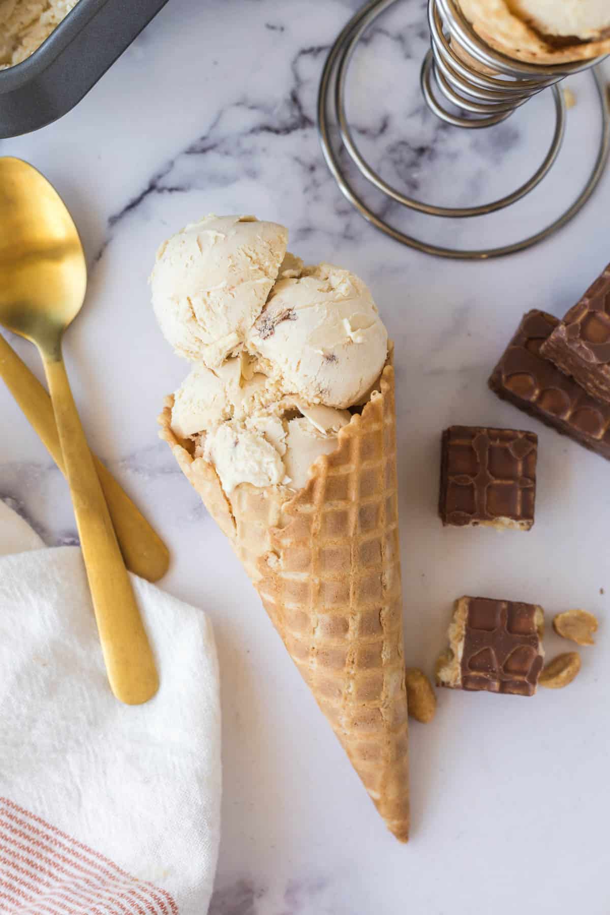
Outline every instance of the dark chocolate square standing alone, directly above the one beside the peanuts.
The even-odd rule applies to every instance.
[[[534,432],[469,425],[445,429],[439,499],[443,523],[529,531],[537,456]]]

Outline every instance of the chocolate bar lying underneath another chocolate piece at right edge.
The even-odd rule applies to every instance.
[[[543,359],[540,349],[559,324],[544,311],[530,311],[498,362],[489,387],[503,400],[564,436],[610,459],[610,405]]]

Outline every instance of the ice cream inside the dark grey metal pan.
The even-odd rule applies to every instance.
[[[0,0],[0,69],[33,54],[77,0]]]

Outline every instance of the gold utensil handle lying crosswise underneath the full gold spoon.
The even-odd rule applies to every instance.
[[[58,430],[48,393],[2,335],[0,375],[47,447],[51,458],[65,476]],[[102,483],[117,539],[121,544],[125,565],[136,575],[147,578],[148,581],[157,581],[166,574],[169,565],[166,544],[102,462],[95,456],[93,462]]]

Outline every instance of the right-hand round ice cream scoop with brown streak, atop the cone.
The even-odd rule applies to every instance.
[[[379,378],[388,333],[368,287],[332,264],[278,280],[246,346],[284,390],[311,404],[348,407]]]

